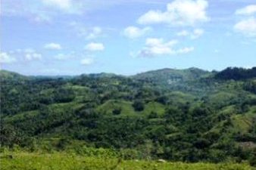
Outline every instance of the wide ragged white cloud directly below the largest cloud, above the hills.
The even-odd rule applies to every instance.
[[[186,54],[194,50],[193,47],[174,49],[173,46],[177,43],[178,42],[176,40],[164,42],[163,39],[146,39],[145,47],[137,53],[137,56],[152,57],[160,55]]]

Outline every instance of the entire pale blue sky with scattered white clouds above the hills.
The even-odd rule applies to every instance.
[[[2,0],[0,22],[23,75],[256,66],[255,0]]]

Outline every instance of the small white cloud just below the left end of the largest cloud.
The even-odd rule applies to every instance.
[[[129,39],[136,39],[140,36],[144,36],[147,32],[151,31],[150,27],[140,29],[136,26],[128,26],[123,30],[123,35]]]

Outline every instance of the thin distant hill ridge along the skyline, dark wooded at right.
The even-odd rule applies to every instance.
[[[256,67],[252,67],[251,69],[244,69],[239,67],[227,67],[225,70],[220,72],[217,71],[208,71],[201,70],[196,67],[191,67],[189,69],[171,69],[164,68],[161,70],[151,70],[144,73],[137,73],[133,76],[123,76],[117,75],[115,73],[89,73],[89,74],[81,74],[80,76],[86,76],[89,78],[111,78],[111,77],[127,77],[131,79],[147,81],[147,82],[161,82],[171,84],[173,82],[186,82],[193,81],[196,79],[212,77],[214,79],[250,79],[256,77]],[[29,78],[50,78],[50,79],[72,79],[77,76],[23,76],[20,73],[14,73],[8,70],[0,70],[0,78],[1,79],[29,79]]]

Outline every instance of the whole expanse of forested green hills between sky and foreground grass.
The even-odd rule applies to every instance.
[[[0,80],[1,147],[255,163],[255,67],[64,77],[1,70]]]

